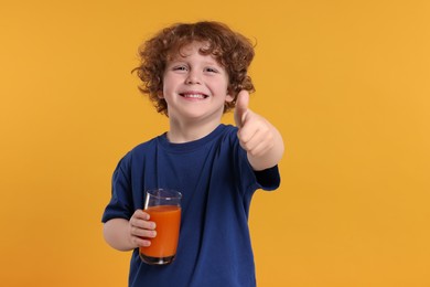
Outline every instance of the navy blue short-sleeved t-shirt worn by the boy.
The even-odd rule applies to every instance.
[[[163,134],[137,146],[114,172],[103,222],[129,220],[143,208],[144,191],[155,188],[182,193],[182,220],[174,262],[148,265],[136,248],[129,286],[256,286],[249,204],[257,189],[279,184],[277,166],[252,170],[233,126],[219,125],[191,142],[171,144]]]

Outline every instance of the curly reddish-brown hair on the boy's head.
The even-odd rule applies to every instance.
[[[140,65],[132,71],[137,72],[142,81],[139,89],[149,95],[157,111],[161,114],[168,115],[166,102],[159,98],[159,92],[163,89],[166,62],[183,46],[194,41],[208,43],[208,46],[200,52],[213,55],[227,71],[228,92],[234,100],[225,103],[224,113],[234,108],[237,94],[241,89],[255,92],[248,75],[255,52],[252,43],[247,38],[219,22],[176,23],[161,30],[139,47]]]

